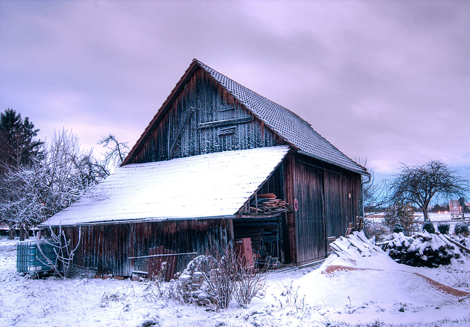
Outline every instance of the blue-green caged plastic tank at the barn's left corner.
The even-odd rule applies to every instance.
[[[49,258],[52,263],[56,262],[57,255],[51,244],[44,240],[40,241],[21,241],[17,243],[17,264],[16,269],[19,273],[38,273],[54,270],[53,265],[49,265],[45,257]]]

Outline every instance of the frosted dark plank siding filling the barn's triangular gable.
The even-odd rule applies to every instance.
[[[178,133],[190,112],[190,107],[195,110]],[[198,124],[246,117],[250,121],[198,127]],[[195,72],[174,101],[163,109],[156,126],[136,150],[130,162],[167,160],[178,134],[180,137],[172,158],[284,144],[202,69]]]

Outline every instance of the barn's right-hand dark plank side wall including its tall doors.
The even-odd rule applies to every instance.
[[[292,153],[284,170],[286,199],[291,205],[299,202],[299,209],[287,215],[291,261],[323,259],[326,237],[344,235],[359,215],[360,175]]]

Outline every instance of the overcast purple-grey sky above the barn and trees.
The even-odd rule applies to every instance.
[[[430,158],[470,176],[469,31],[466,1],[0,1],[0,109],[132,146],[198,58],[379,178]]]

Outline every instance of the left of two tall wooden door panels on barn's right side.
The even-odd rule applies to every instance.
[[[296,197],[297,262],[326,256],[325,220],[323,215],[322,171],[298,161]]]

